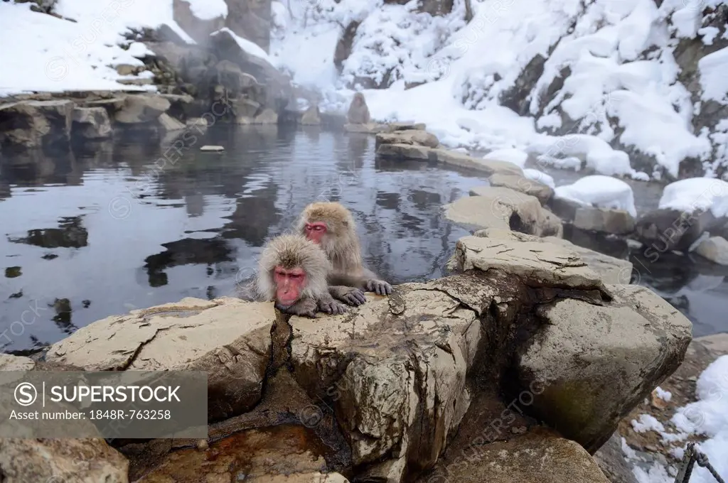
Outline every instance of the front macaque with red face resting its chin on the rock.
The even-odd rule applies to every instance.
[[[281,235],[261,254],[256,291],[274,300],[285,314],[315,317],[316,311],[344,314],[347,307],[333,300],[326,277],[333,268],[325,252],[305,236]]]

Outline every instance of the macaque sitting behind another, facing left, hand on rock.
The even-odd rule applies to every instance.
[[[341,203],[318,201],[309,204],[298,218],[296,231],[323,248],[333,264],[333,272],[328,277],[331,286],[355,287],[377,295],[392,293],[392,285],[364,266],[354,217]],[[331,289],[334,298],[348,303],[339,297],[336,292],[339,288]]]

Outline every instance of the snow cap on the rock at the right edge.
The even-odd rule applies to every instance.
[[[712,177],[689,177],[665,186],[660,209],[692,213],[710,209],[714,216],[728,215],[728,183]]]

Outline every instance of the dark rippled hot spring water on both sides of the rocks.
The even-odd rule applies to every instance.
[[[203,144],[226,151],[197,151]],[[317,129],[213,128],[155,169],[160,156],[156,144],[117,144],[1,159],[0,351],[53,343],[134,308],[234,296],[264,242],[314,199],[352,209],[365,259],[385,279],[441,276],[469,231],[440,207],[486,184],[477,174],[381,161],[373,137]],[[549,172],[560,184],[561,172]],[[577,233],[574,242],[630,256],[623,241]],[[636,268],[641,283],[688,314],[695,335],[728,330],[728,270],[666,256],[648,262],[649,272]]]

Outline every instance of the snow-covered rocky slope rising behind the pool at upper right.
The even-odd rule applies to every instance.
[[[728,34],[722,11],[711,13],[722,2],[586,3],[472,1],[466,25],[464,0],[434,18],[416,0],[290,2],[293,17],[274,1],[272,54],[297,81],[328,89],[332,107],[350,99],[345,86],[363,88],[376,119],[424,121],[447,145],[518,148],[562,166],[576,156],[638,179],[677,177],[684,159],[702,171],[693,175],[724,169],[728,120],[698,117],[708,101],[728,113]],[[337,78],[347,27],[355,35]],[[687,50],[683,63],[699,62],[681,69]]]

